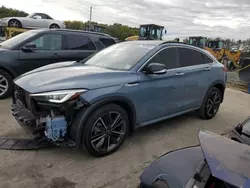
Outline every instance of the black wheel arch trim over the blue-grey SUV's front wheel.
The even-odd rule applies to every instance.
[[[79,113],[79,115],[81,115],[80,121],[78,122],[78,124],[73,125],[73,126],[76,126],[73,129],[76,132],[75,142],[77,146],[81,146],[84,124],[87,118],[89,117],[89,115],[92,112],[94,112],[94,110],[96,110],[97,108],[100,108],[103,105],[111,104],[111,103],[119,105],[124,110],[126,110],[126,112],[128,113],[128,117],[129,117],[129,132],[132,133],[134,131],[135,125],[136,125],[136,109],[132,101],[127,99],[126,97],[120,97],[120,96],[107,97],[107,98],[100,99],[94,102],[87,108],[82,109],[82,112]]]

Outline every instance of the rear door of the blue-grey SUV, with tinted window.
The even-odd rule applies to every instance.
[[[199,107],[212,84],[210,72],[213,61],[194,48],[178,48],[179,65],[177,74],[183,78],[182,110]]]

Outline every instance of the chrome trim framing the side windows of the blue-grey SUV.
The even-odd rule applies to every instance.
[[[137,72],[141,72],[141,70],[145,67],[145,65],[151,60],[153,59],[158,53],[160,53],[162,50],[168,49],[168,48],[187,48],[187,49],[191,49],[191,50],[195,50],[197,52],[202,53],[203,55],[207,56],[209,59],[211,59],[213,62],[212,63],[204,63],[205,64],[213,64],[215,63],[215,59],[214,57],[211,57],[210,54],[206,54],[205,52],[203,52],[203,50],[197,49],[195,47],[190,47],[190,46],[167,46],[164,47],[162,49],[160,49],[159,51],[157,51],[154,55],[152,55],[149,59],[147,59],[147,61],[145,63],[143,63],[143,65],[137,70]],[[202,64],[201,64],[202,65]],[[191,66],[196,66],[196,65],[190,65],[190,66],[183,66],[183,67],[191,67]],[[176,67],[174,69],[179,69],[179,68],[183,68],[183,67]],[[168,69],[168,70],[172,70],[172,69]]]

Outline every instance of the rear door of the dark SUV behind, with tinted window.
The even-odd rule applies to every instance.
[[[97,52],[92,40],[83,34],[65,34],[63,50],[55,54],[54,61],[80,61]]]

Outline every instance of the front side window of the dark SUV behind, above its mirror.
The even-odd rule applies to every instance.
[[[30,42],[35,44],[37,50],[61,50],[62,35],[45,34]]]

